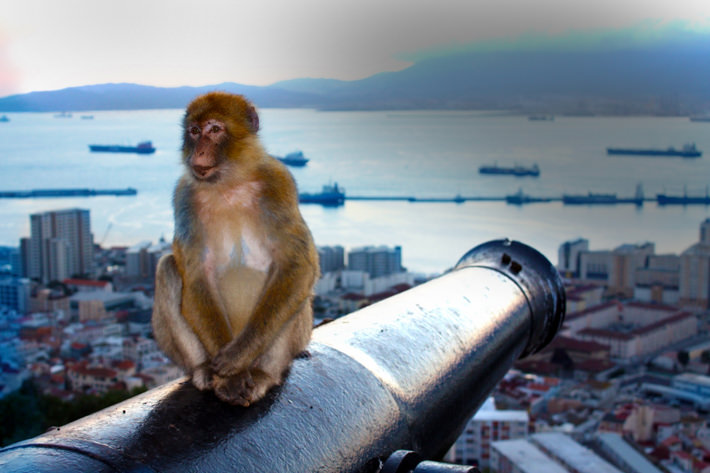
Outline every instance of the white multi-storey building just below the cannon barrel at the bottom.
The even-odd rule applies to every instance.
[[[527,437],[529,423],[527,411],[496,410],[493,398],[489,398],[454,443],[453,459],[456,463],[486,468],[490,465],[491,444]]]

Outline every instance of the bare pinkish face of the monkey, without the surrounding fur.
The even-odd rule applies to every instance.
[[[185,130],[185,148],[191,151],[186,165],[198,181],[215,181],[219,178],[227,142],[227,126],[220,120],[208,119],[190,123]]]

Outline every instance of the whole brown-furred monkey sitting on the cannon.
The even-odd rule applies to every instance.
[[[283,382],[312,331],[318,253],[293,177],[242,96],[211,92],[183,121],[173,253],[158,263],[153,332],[200,390],[248,406]]]

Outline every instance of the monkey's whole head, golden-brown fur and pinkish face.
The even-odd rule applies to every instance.
[[[215,182],[228,165],[246,159],[249,138],[259,131],[259,115],[241,95],[210,92],[185,111],[182,156],[197,181]]]

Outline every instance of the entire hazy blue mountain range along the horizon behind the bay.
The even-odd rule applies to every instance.
[[[402,71],[357,81],[295,79],[267,87],[105,84],[5,97],[0,112],[182,108],[196,95],[225,90],[260,107],[686,115],[710,111],[708,58],[708,34],[613,48],[560,43],[479,49],[433,55]]]

